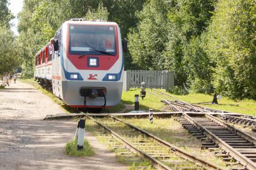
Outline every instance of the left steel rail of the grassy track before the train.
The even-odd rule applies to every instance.
[[[160,161],[158,161],[154,157],[150,156],[149,154],[147,154],[144,151],[140,150],[139,148],[135,147],[133,144],[130,144],[130,142],[126,141],[124,138],[122,138],[122,136],[118,135],[116,132],[114,132],[113,130],[109,129],[104,124],[99,123],[98,121],[96,121],[94,118],[90,117],[87,114],[84,114],[84,115],[87,118],[89,118],[90,120],[93,120],[96,124],[99,124],[99,126],[102,126],[102,127],[104,127],[104,129],[108,130],[108,132],[110,132],[113,136],[115,136],[116,138],[120,139],[123,145],[126,145],[128,148],[130,148],[134,152],[138,153],[140,157],[143,157],[145,159],[150,160],[155,168],[171,170],[171,168],[169,168],[168,166],[164,165],[163,163],[161,163]]]

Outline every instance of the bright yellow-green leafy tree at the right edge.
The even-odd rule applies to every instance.
[[[214,87],[233,98],[256,99],[256,7],[253,0],[221,0],[205,35]]]

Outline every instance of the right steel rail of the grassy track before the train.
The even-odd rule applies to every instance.
[[[190,160],[192,162],[196,162],[196,163],[199,163],[200,165],[202,166],[205,166],[207,168],[211,168],[211,169],[223,169],[223,168],[220,168],[219,166],[217,165],[214,165],[213,163],[210,163],[210,162],[206,162],[205,160],[199,158],[199,157],[196,157],[196,156],[193,156],[192,154],[189,154],[187,153],[186,151],[184,150],[181,150],[180,148],[176,147],[175,145],[172,145],[170,144],[169,142],[166,142],[164,141],[163,139],[161,138],[158,138],[157,136],[155,135],[152,135],[151,133],[148,133],[146,132],[145,130],[142,130],[140,129],[139,127],[136,127],[134,126],[133,124],[130,124],[130,123],[126,123],[125,121],[123,120],[120,120],[119,118],[116,118],[114,117],[113,115],[108,115],[110,116],[111,118],[113,118],[114,120],[117,120],[117,121],[120,121],[124,124],[126,124],[127,126],[130,126],[131,128],[133,129],[136,129],[137,131],[139,132],[142,132],[143,134],[157,140],[158,142],[160,142],[161,144],[165,145],[166,147],[170,147],[170,149],[172,151],[176,151],[176,153],[178,153],[181,157],[183,157],[184,159],[187,159],[187,160]]]

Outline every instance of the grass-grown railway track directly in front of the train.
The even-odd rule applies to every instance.
[[[222,169],[119,118],[111,115],[106,115],[105,118],[92,118],[87,114],[86,117],[122,141],[122,144],[131,151],[150,160],[157,169]]]

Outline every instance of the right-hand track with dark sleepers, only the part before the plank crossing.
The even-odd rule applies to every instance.
[[[245,169],[256,169],[256,138],[208,114],[183,114],[180,122],[190,132],[198,130],[201,136],[207,136],[207,147],[225,150],[225,153],[220,154],[224,159],[231,157]]]

